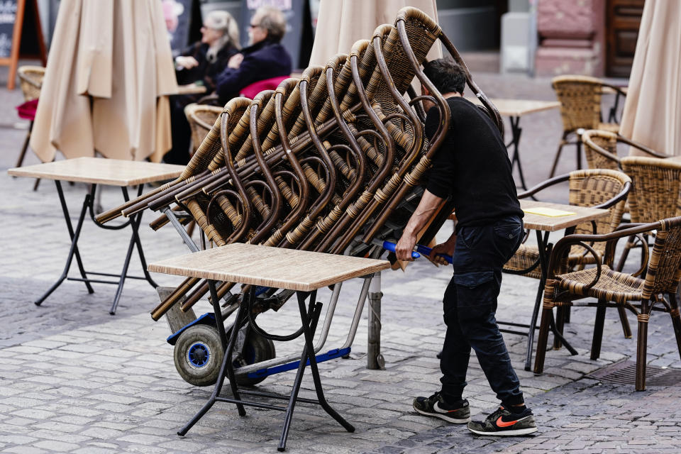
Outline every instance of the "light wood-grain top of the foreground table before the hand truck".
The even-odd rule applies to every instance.
[[[148,270],[310,292],[389,266],[387,260],[232,243],[150,263]]]

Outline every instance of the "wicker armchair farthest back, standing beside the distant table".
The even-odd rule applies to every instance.
[[[616,133],[617,123],[602,123],[601,97],[604,89],[610,89],[616,96],[625,96],[624,92],[600,79],[586,76],[554,77],[551,85],[560,101],[560,117],[563,118],[563,137],[553,159],[549,177],[555,175],[560,152],[563,145],[577,145],[577,169],[582,168],[582,139],[580,129],[599,129]],[[619,98],[618,98],[619,99]],[[614,116],[611,114],[610,118]]]

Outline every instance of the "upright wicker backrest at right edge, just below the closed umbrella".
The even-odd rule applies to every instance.
[[[655,222],[681,214],[681,162],[627,156],[622,169],[631,177],[631,222]]]

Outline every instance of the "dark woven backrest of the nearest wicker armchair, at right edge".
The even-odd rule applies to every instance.
[[[680,278],[681,217],[663,219],[650,254],[643,298],[650,299],[659,293],[675,295]]]

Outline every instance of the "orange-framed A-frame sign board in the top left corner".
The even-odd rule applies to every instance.
[[[36,0],[0,1],[0,65],[9,66],[10,90],[14,89],[20,51],[26,50],[33,55],[21,53],[21,57],[39,58],[45,66],[48,58]]]

